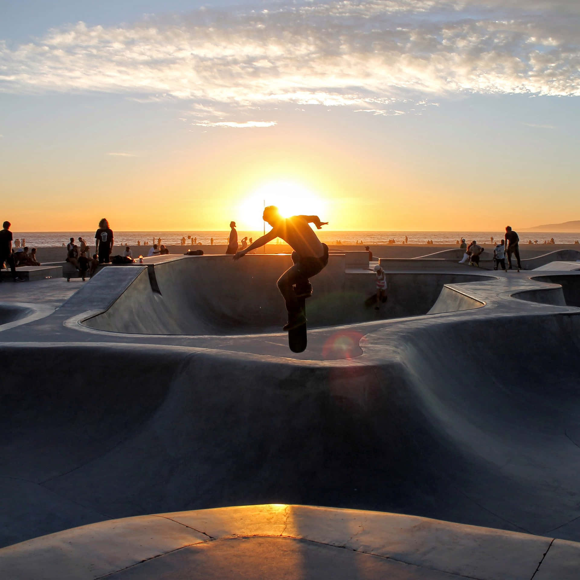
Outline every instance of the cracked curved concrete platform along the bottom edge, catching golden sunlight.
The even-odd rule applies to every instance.
[[[579,562],[575,542],[400,514],[280,504],[109,520],[0,550],[0,574],[12,580],[566,580],[578,573]]]

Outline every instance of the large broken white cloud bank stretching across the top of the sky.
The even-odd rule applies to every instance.
[[[0,90],[189,100],[192,115],[226,124],[232,112],[284,103],[382,114],[409,95],[580,96],[577,4],[297,1],[132,26],[81,22],[27,44],[0,41]]]

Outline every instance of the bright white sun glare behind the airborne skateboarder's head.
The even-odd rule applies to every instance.
[[[238,206],[240,222],[247,227],[262,228],[264,205],[276,205],[284,218],[293,215],[319,215],[324,219],[326,205],[318,195],[293,182],[270,182],[259,187]]]

